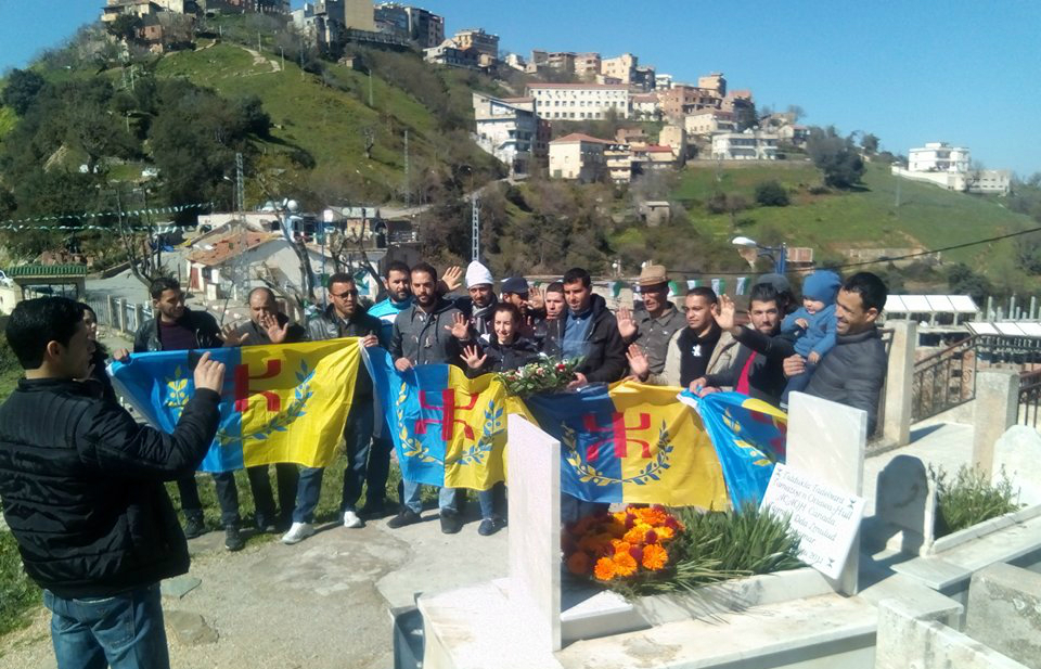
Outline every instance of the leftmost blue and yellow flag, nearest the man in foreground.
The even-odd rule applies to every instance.
[[[354,398],[358,342],[349,337],[210,350],[227,371],[220,425],[200,469],[331,464]],[[193,370],[202,353],[133,353],[111,365],[113,383],[153,425],[172,432],[194,393]]]

